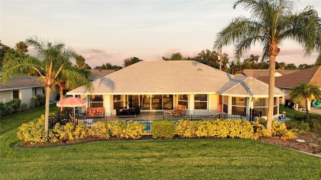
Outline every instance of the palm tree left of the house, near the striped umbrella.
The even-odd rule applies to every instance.
[[[91,84],[82,74],[65,68],[62,59],[75,57],[76,53],[70,47],[65,48],[63,42],[56,41],[52,43],[37,36],[32,36],[26,40],[26,43],[35,48],[39,60],[32,61],[30,58],[23,58],[18,62],[10,59],[3,67],[5,69],[3,80],[6,82],[9,78],[27,74],[32,70],[38,72],[39,80],[43,81],[46,87],[45,130],[46,136],[48,136],[50,91],[59,80],[59,77],[66,76],[70,81],[78,81],[87,89],[91,89]]]

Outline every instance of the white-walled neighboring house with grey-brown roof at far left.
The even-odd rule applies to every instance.
[[[43,94],[43,83],[38,82],[38,77],[25,75],[23,77],[11,78],[7,83],[1,80],[0,99],[6,103],[14,98],[20,98],[22,103],[30,106],[31,97]]]

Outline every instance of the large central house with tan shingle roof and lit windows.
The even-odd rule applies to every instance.
[[[87,107],[104,107],[104,115],[131,100],[145,112],[163,112],[178,104],[186,114],[219,112],[245,114],[250,108],[267,115],[268,84],[248,76],[236,76],[193,60],[139,61],[92,82],[93,91],[78,87],[67,95],[87,100]],[[275,88],[274,117],[284,92]]]

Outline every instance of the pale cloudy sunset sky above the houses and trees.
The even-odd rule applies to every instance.
[[[111,63],[123,65],[128,57],[157,60],[180,52],[194,57],[213,50],[216,34],[233,17],[250,17],[234,0],[1,0],[0,39],[10,47],[30,36],[60,40],[85,57],[92,68]],[[313,5],[321,14],[320,0],[300,0],[297,9]],[[28,48],[34,55],[32,47]],[[304,57],[302,48],[284,41],[276,61],[312,64],[317,53]],[[217,50],[217,49],[214,49]],[[218,51],[218,50],[217,50]],[[233,46],[224,46],[229,60]],[[243,55],[262,55],[256,44]]]

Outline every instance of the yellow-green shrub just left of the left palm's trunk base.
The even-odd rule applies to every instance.
[[[41,115],[38,122],[30,122],[29,124],[23,123],[19,127],[17,136],[20,140],[25,142],[30,141],[31,144],[38,142],[47,142],[46,131],[45,131],[45,115]]]

